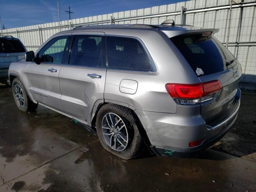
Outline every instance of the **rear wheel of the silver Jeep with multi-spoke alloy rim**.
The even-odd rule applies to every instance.
[[[143,140],[128,108],[102,106],[96,117],[96,130],[102,146],[120,158],[136,158],[143,152]]]

